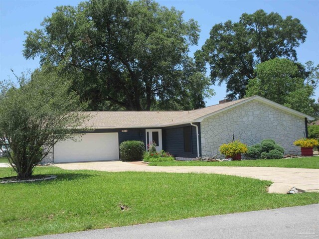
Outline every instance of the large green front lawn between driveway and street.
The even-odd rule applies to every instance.
[[[319,202],[318,193],[269,194],[268,181],[227,175],[57,167],[39,167],[35,174],[55,174],[57,179],[0,184],[1,239]],[[0,177],[7,176],[12,176],[12,170],[0,168]]]

